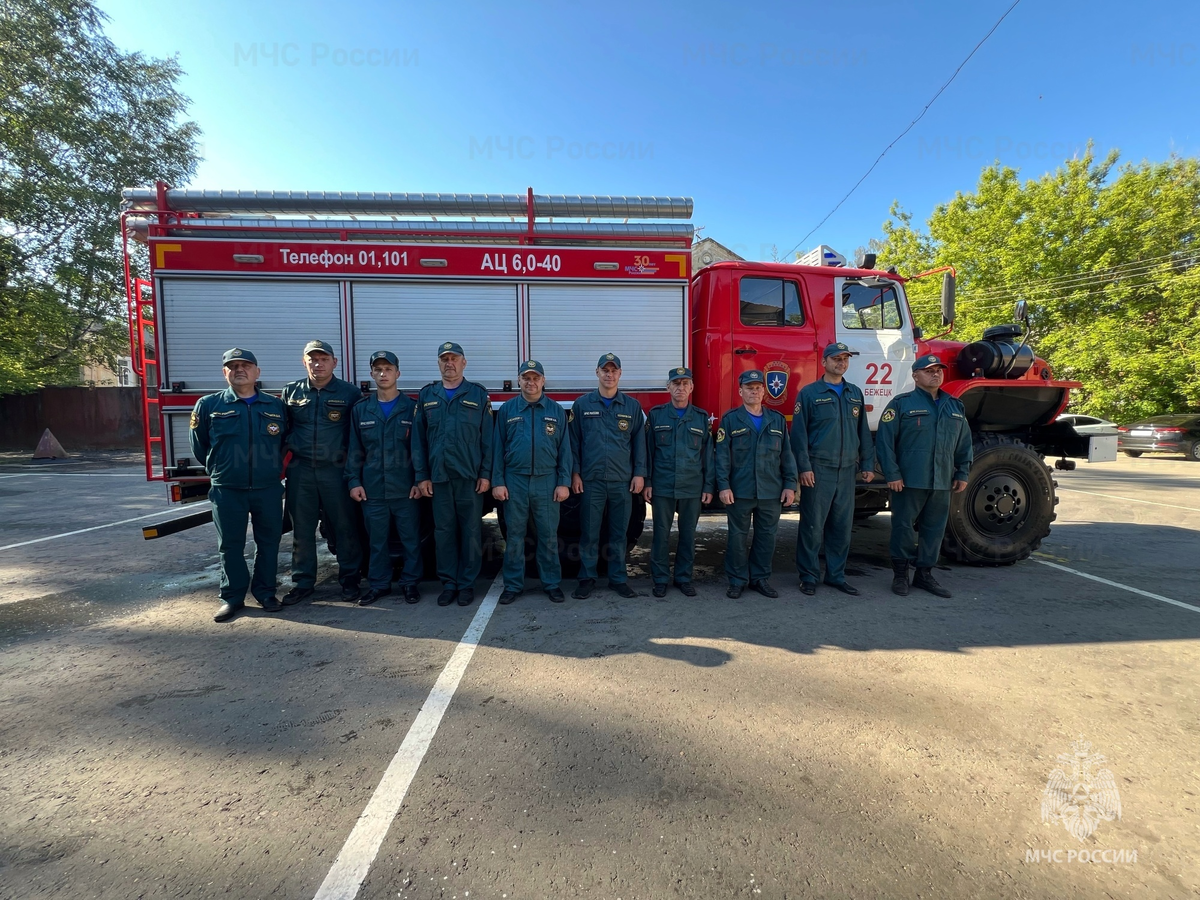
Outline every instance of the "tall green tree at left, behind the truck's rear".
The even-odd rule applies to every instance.
[[[120,190],[196,170],[174,59],[122,53],[90,0],[0,0],[0,394],[127,353]]]

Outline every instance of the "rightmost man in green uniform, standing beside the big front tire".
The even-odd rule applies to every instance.
[[[935,355],[912,364],[917,389],[892,398],[875,437],[880,468],[892,490],[892,590],[908,593],[908,565],[916,564],[914,588],[937,596],[950,592],[934,580],[950,515],[950,491],[967,488],[974,450],[966,410],[943,394],[946,365]]]

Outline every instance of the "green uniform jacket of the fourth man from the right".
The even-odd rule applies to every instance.
[[[655,494],[678,499],[713,493],[716,463],[708,413],[689,404],[680,416],[671,403],[664,403],[650,410],[646,431],[647,487],[653,487]]]

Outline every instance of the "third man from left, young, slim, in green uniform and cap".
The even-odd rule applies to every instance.
[[[400,360],[395,353],[371,354],[371,378],[376,392],[350,410],[350,448],[346,456],[346,486],[350,499],[361,504],[371,554],[368,588],[359,606],[370,606],[391,593],[391,552],[388,538],[392,523],[404,552],[400,587],[404,600],[421,599],[421,534],[413,475],[413,421],[416,403],[396,386]]]

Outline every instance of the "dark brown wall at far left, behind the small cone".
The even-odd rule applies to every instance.
[[[70,452],[142,446],[140,388],[43,388],[0,397],[0,450],[37,446],[49,428]]]

